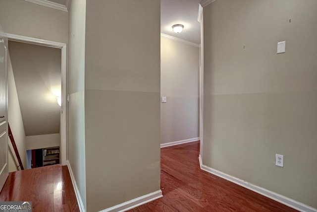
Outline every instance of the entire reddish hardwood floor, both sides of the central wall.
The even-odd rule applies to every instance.
[[[161,149],[163,197],[129,212],[296,212],[202,171],[199,141]],[[79,212],[67,166],[9,173],[0,201],[30,201],[33,212]]]

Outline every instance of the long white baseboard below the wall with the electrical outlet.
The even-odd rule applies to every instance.
[[[286,205],[290,208],[293,208],[295,210],[298,210],[300,212],[317,212],[317,209],[313,208],[313,207],[310,207],[308,205],[305,205],[303,203],[300,203],[300,202],[297,202],[296,200],[293,200],[293,199],[290,199],[288,197],[285,197],[283,195],[280,195],[280,194],[277,194],[275,192],[272,192],[272,191],[269,191],[267,189],[264,189],[260,186],[256,186],[252,183],[249,183],[247,181],[244,181],[244,180],[241,180],[239,178],[236,178],[234,176],[231,176],[229,174],[226,174],[224,172],[221,172],[221,171],[218,171],[216,169],[213,169],[209,166],[206,166],[206,165],[203,165],[203,161],[202,161],[202,158],[201,158],[201,155],[199,155],[199,164],[200,164],[200,168],[204,171],[207,171],[211,174],[214,174],[218,177],[221,177],[225,180],[228,180],[232,183],[235,183],[235,184],[238,184],[244,188],[247,188],[251,191],[254,191],[258,194],[261,194],[269,199],[272,199],[272,200],[275,200],[276,202],[279,202],[283,205]]]

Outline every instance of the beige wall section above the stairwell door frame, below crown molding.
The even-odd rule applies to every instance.
[[[6,33],[68,42],[68,13],[26,0],[0,0],[0,20]]]

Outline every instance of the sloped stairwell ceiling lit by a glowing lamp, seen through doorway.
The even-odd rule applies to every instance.
[[[25,135],[59,133],[61,50],[14,41],[8,47]]]

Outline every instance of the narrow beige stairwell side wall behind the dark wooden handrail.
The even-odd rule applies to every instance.
[[[19,151],[20,158],[23,167],[26,168],[26,137],[24,132],[23,120],[20,110],[20,104],[18,99],[18,94],[15,87],[14,75],[12,71],[12,65],[10,56],[7,59],[7,71],[8,71],[8,123],[10,125],[12,135]],[[9,143],[9,172],[20,170],[17,168],[19,163],[16,159],[14,149],[12,147],[11,141],[8,138]]]

